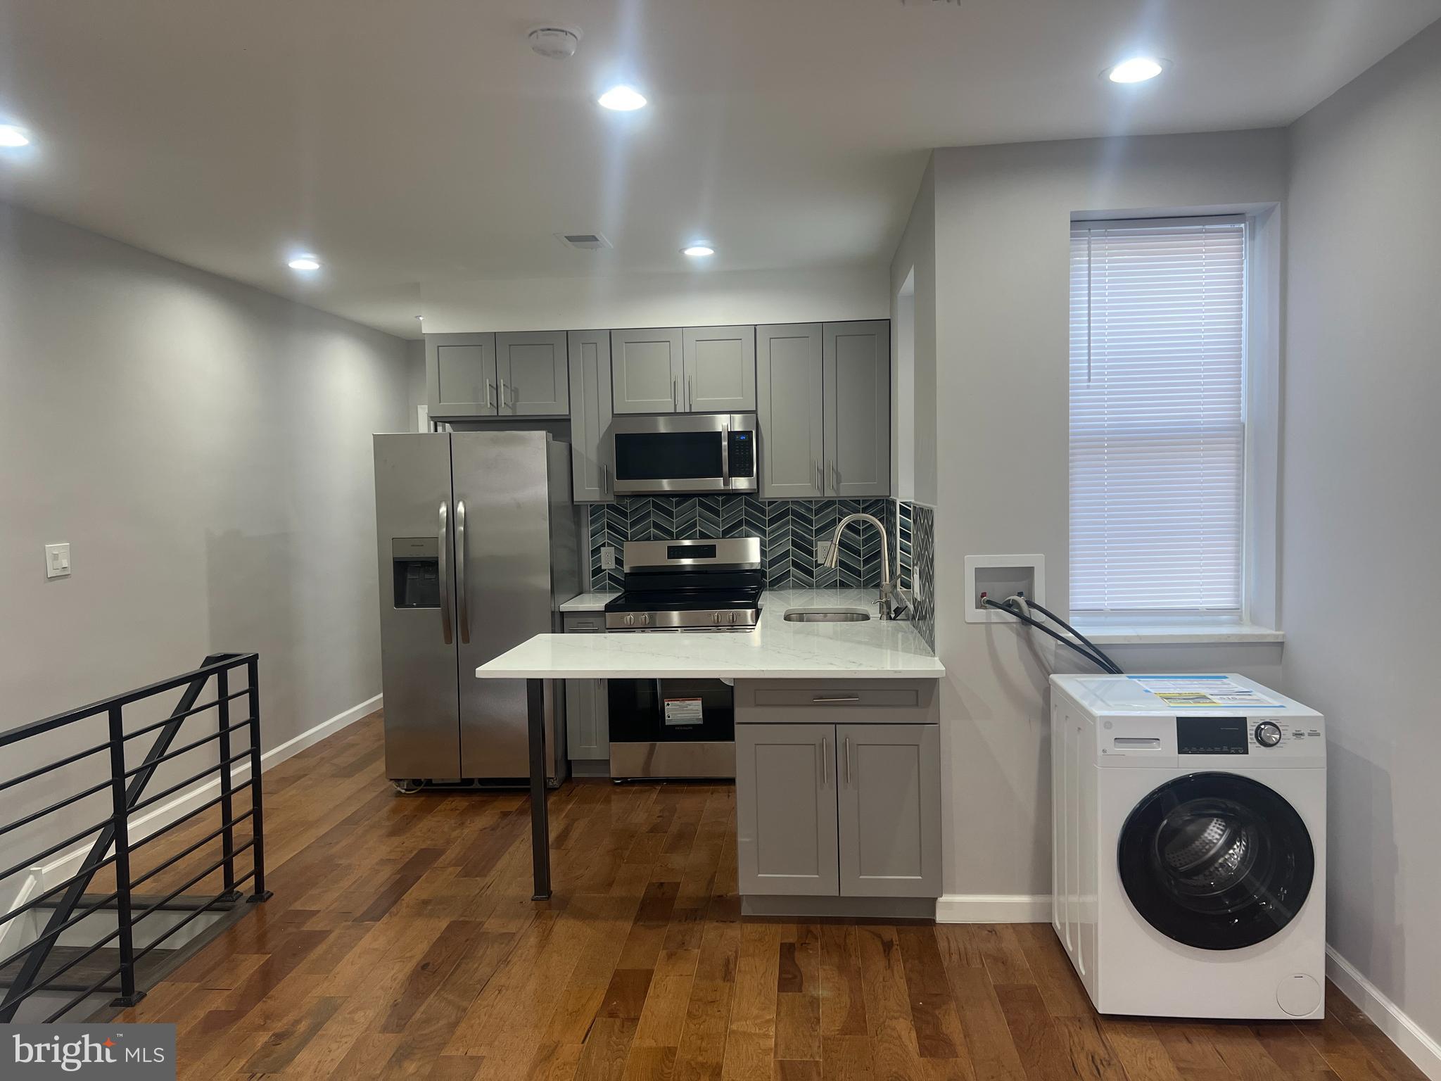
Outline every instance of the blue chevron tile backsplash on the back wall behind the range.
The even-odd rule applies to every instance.
[[[621,569],[601,568],[601,548],[627,540],[690,540],[758,536],[765,581],[782,590],[880,584],[880,538],[875,529],[846,530],[840,566],[817,566],[816,542],[829,540],[843,515],[875,515],[891,526],[889,499],[761,499],[759,496],[630,496],[591,506],[591,588],[620,590]],[[617,561],[620,551],[617,551]],[[893,556],[892,556],[893,558]]]

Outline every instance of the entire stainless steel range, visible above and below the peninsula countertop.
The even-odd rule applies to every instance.
[[[631,540],[625,592],[605,628],[749,631],[761,615],[761,542]],[[735,777],[735,695],[719,679],[612,679],[611,777]]]

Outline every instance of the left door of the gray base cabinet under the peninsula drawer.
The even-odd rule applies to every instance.
[[[833,725],[735,726],[742,894],[836,897],[834,744]]]

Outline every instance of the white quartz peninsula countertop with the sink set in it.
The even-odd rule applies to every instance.
[[[601,594],[608,597],[607,594]],[[610,594],[614,595],[614,594]],[[581,598],[576,597],[574,604]],[[480,679],[938,679],[945,667],[905,620],[875,618],[875,590],[767,590],[754,631],[537,634]],[[788,608],[865,608],[865,623],[787,623]],[[562,608],[586,611],[585,608]],[[594,611],[589,610],[589,611]]]

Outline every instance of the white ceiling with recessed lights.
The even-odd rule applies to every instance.
[[[0,197],[415,336],[427,283],[885,264],[927,150],[1284,124],[1441,0],[0,0]],[[561,20],[574,59],[525,32]],[[1134,52],[1151,84],[1098,78]],[[612,114],[628,79],[651,107]],[[610,252],[556,231],[604,232]],[[284,267],[311,249],[313,280]]]

